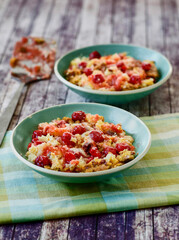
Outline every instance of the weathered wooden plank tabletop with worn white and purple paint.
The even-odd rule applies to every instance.
[[[120,106],[137,116],[179,112],[179,0],[0,0],[0,107],[18,83],[8,77],[14,43],[23,35],[53,37],[58,57],[86,45],[132,43],[165,54],[171,79],[141,101]],[[53,75],[26,86],[9,129],[27,115],[85,99]],[[179,239],[179,207],[99,214],[0,226],[0,239]]]

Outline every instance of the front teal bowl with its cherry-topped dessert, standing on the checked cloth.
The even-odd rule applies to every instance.
[[[72,114],[79,111],[86,114],[85,119],[81,122],[72,119]],[[94,123],[92,123],[92,119],[95,119]],[[58,127],[56,124],[59,124]],[[85,129],[80,129],[79,126],[83,126]],[[38,129],[38,127],[40,128]],[[66,127],[68,131],[66,131]],[[37,129],[42,132],[46,131],[45,135],[41,135],[42,132],[40,134],[34,132]],[[94,134],[94,131],[97,131],[97,134]],[[64,135],[65,132],[68,133],[67,136]],[[55,135],[56,137],[54,137]],[[84,141],[80,143],[82,135]],[[78,147],[77,143],[74,144],[76,141],[79,141]],[[19,123],[11,136],[11,147],[19,160],[42,175],[73,183],[101,181],[119,175],[121,171],[137,163],[147,153],[150,144],[151,134],[139,118],[120,108],[96,103],[64,104],[43,109]],[[41,148],[38,149],[38,146]],[[62,153],[62,149],[60,152],[54,151],[53,147],[57,146],[64,148],[64,153]],[[50,162],[46,159],[46,164],[43,159],[38,159],[43,155],[44,147],[46,149],[44,156],[50,159]],[[32,152],[29,152],[27,148]],[[31,153],[35,156],[30,155]],[[63,156],[61,157],[60,154]],[[56,159],[56,155],[60,157]],[[63,165],[65,158],[67,166]],[[88,163],[82,164],[87,159],[88,163],[92,163],[91,166],[87,165]],[[56,165],[55,161],[59,165]],[[79,166],[79,163],[82,165]],[[75,165],[77,165],[76,170]]]

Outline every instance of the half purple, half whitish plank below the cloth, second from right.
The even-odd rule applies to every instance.
[[[153,239],[152,210],[126,212],[125,239]]]

